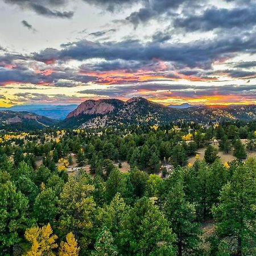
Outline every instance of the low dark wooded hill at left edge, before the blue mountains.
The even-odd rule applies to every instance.
[[[35,130],[55,125],[56,120],[29,112],[0,111],[0,129]]]

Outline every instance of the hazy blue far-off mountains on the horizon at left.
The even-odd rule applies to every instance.
[[[64,119],[76,108],[77,105],[16,105],[10,108],[0,108],[0,110],[27,111],[53,119]]]

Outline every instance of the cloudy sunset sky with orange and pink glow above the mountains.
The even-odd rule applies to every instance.
[[[256,0],[0,0],[0,106],[256,104]]]

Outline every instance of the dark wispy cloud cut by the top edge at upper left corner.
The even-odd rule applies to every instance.
[[[72,18],[73,11],[58,11],[52,8],[62,7],[66,0],[5,0],[6,3],[33,10],[35,13],[49,18]]]

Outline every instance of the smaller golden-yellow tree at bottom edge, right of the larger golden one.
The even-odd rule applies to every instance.
[[[59,256],[77,256],[80,247],[77,246],[77,240],[72,232],[66,236],[67,242],[60,243]]]

